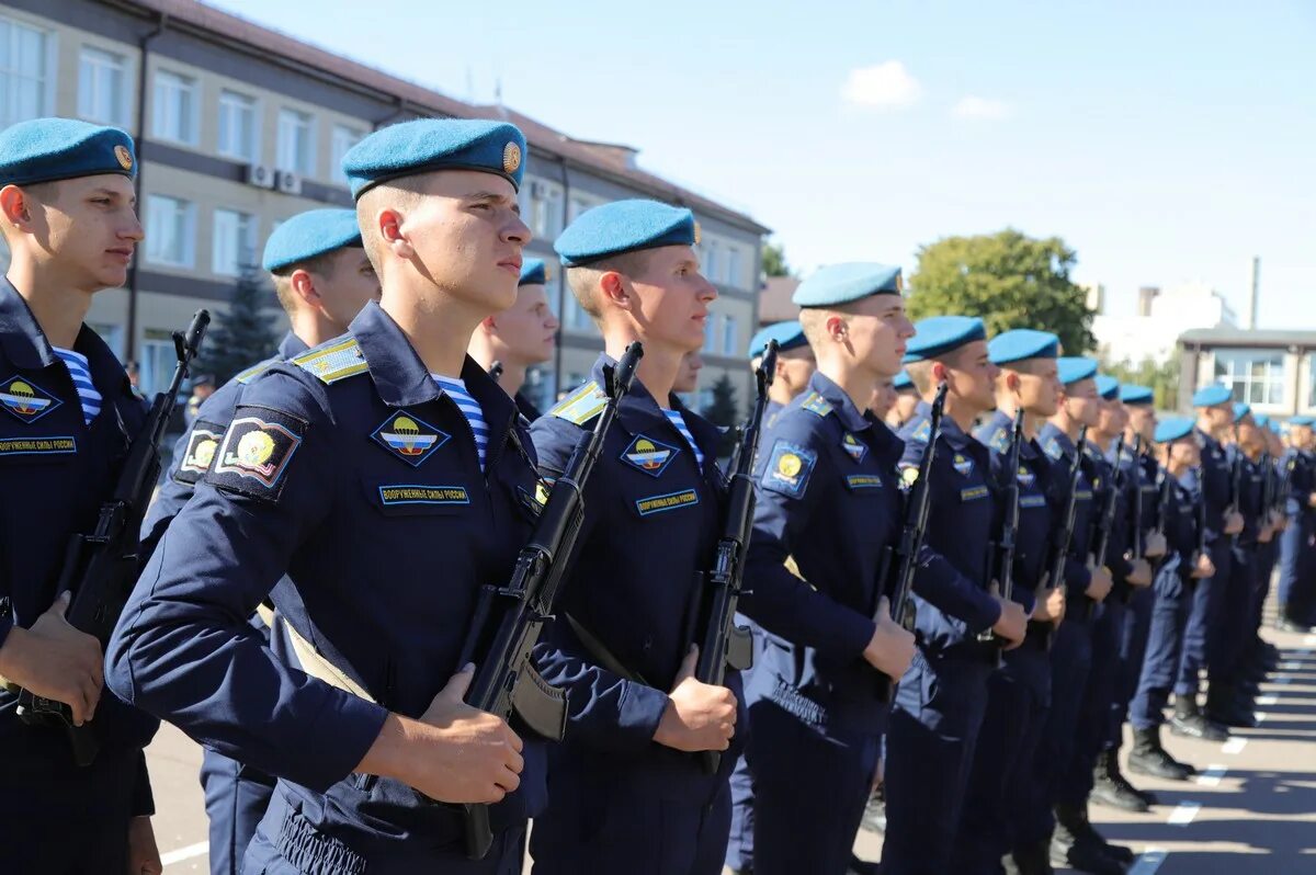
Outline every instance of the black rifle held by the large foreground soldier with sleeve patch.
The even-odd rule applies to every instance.
[[[553,618],[562,571],[571,559],[584,518],[584,486],[603,449],[603,439],[617,416],[617,404],[630,389],[636,366],[644,355],[640,343],[626,347],[615,367],[605,368],[607,401],[594,429],[580,436],[562,475],[521,547],[505,586],[480,589],[471,621],[471,634],[458,664],[476,663],[466,691],[466,704],[503,720],[516,713],[537,734],[562,741],[567,722],[566,695],[550,687],[534,670],[530,651],[540,642],[544,625]],[[488,805],[463,805],[466,853],[484,859],[494,843]]]

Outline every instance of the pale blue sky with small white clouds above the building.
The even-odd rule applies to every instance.
[[[501,83],[805,272],[1015,226],[1112,313],[1203,279],[1241,314],[1255,254],[1259,326],[1316,328],[1316,3],[209,1],[463,100]]]

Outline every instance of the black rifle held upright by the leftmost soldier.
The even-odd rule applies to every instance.
[[[100,505],[96,528],[91,534],[75,534],[64,553],[55,592],[72,592],[72,603],[64,617],[75,629],[93,636],[100,642],[101,653],[109,643],[118,614],[124,612],[141,571],[138,537],[142,517],[146,516],[146,507],[159,479],[161,442],[178,405],[179,388],[187,379],[209,324],[211,314],[203,309],[192,317],[186,334],[174,332],[174,351],[178,355],[174,378],[168,388],[155,396],[142,430],[129,445],[113,497]],[[17,692],[17,713],[24,722],[66,729],[79,766],[89,766],[96,759],[100,742],[91,722],[75,726],[72,709],[64,703],[33,696],[26,689]]]

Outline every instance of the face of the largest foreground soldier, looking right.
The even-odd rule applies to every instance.
[[[445,170],[429,174],[424,192],[401,222],[417,268],[490,313],[512,307],[521,247],[530,242],[512,183],[475,170]]]

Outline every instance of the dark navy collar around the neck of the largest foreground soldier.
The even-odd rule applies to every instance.
[[[361,347],[370,367],[370,379],[384,404],[413,407],[443,395],[403,329],[379,304],[368,301],[347,330]],[[516,404],[470,355],[462,363],[461,379],[471,397],[479,401],[491,432],[490,446],[496,446],[496,439],[516,412]]]

